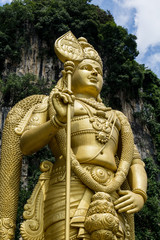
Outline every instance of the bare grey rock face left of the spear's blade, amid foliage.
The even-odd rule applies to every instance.
[[[4,76],[14,72],[19,76],[31,73],[39,78],[47,80],[55,79],[57,65],[60,63],[48,57],[45,52],[49,51],[47,43],[41,41],[37,35],[30,36],[29,47],[21,49],[21,61],[19,64],[11,64],[9,59],[5,61]]]

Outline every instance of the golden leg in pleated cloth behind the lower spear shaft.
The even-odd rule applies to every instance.
[[[75,215],[85,192],[86,186],[79,179],[72,176],[70,192],[71,219]],[[65,179],[56,182],[54,175],[51,177],[44,205],[45,240],[65,240]],[[70,240],[78,239],[78,231],[79,227],[70,227]]]

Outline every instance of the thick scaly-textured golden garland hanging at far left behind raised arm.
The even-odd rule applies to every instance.
[[[0,161],[0,219],[2,223],[3,219],[10,219],[13,224],[16,223],[22,152],[20,136],[15,133],[15,128],[25,114],[36,104],[42,103],[44,98],[43,95],[28,97],[17,103],[7,115],[2,135]],[[8,227],[8,231],[12,232],[13,227]],[[10,239],[13,239],[13,236],[10,236]]]

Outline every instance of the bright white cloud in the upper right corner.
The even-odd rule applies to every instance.
[[[134,21],[135,34],[137,36],[138,50],[145,54],[149,47],[160,45],[160,1],[159,0],[113,0],[123,9],[126,27],[130,23],[127,19]],[[134,15],[131,10],[135,10]],[[128,12],[128,14],[127,14]],[[123,19],[123,18],[122,18]]]

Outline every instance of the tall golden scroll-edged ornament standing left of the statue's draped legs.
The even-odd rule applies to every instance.
[[[23,217],[26,221],[22,223],[20,229],[24,240],[44,240],[44,200],[52,172],[52,165],[49,161],[44,161],[41,164],[42,174],[30,199],[27,200],[27,204],[24,206]]]

